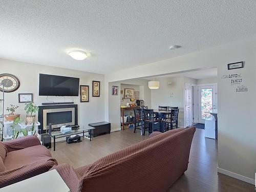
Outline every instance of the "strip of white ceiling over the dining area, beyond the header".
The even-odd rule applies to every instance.
[[[189,77],[193,79],[207,79],[207,78],[214,78],[217,77],[217,68],[211,68],[211,69],[204,69],[204,70],[197,70],[197,71],[190,71],[185,73],[176,73],[176,74],[170,74],[170,75],[163,75],[163,76],[157,76],[158,77],[166,78],[166,77]],[[147,80],[153,80],[154,77],[144,78]]]

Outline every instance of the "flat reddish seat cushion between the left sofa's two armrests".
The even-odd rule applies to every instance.
[[[5,169],[9,170],[17,167],[22,167],[35,161],[49,159],[49,157],[51,157],[51,154],[45,146],[36,145],[27,147],[23,150],[8,153],[7,157],[4,160]]]

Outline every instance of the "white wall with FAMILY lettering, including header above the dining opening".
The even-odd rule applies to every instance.
[[[245,68],[227,70],[227,63],[245,61]],[[232,42],[211,49],[150,63],[105,76],[105,81],[119,81],[186,70],[218,67],[218,159],[219,172],[246,182],[254,182],[256,172],[255,109],[256,38]],[[247,93],[236,93],[223,74],[242,73]],[[105,97],[108,102],[108,95]],[[106,108],[108,106],[106,105]],[[106,109],[105,119],[108,119]]]

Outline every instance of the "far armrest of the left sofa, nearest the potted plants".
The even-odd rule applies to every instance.
[[[30,146],[40,145],[41,143],[36,136],[30,135],[3,142],[3,144],[6,146],[7,152],[9,153],[17,150],[22,150],[23,148],[27,148]]]

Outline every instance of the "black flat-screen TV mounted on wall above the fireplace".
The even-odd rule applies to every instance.
[[[78,96],[79,78],[39,74],[40,96]]]

